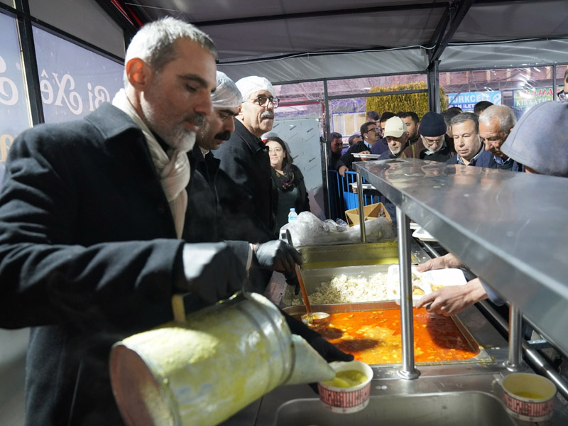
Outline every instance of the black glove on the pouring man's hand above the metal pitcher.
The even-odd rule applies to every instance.
[[[208,303],[226,299],[241,290],[245,266],[225,243],[185,244],[182,252],[185,282],[178,290],[190,291]]]

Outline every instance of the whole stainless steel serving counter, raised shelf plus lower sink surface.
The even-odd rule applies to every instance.
[[[356,163],[356,170],[397,206],[403,219],[398,226],[408,226],[406,218],[420,224],[567,353],[568,200],[563,195],[568,180],[410,159]],[[370,403],[351,415],[322,408],[309,386],[281,386],[239,413],[239,424],[535,424],[511,417],[503,404],[503,377],[526,364],[510,365],[510,345],[476,307],[457,317],[483,356],[417,364],[417,375],[407,378],[400,375],[400,365],[374,365]],[[538,354],[535,359],[537,364]],[[544,424],[568,424],[560,393],[552,419]]]

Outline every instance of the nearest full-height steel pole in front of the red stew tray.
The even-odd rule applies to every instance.
[[[396,207],[398,224],[398,273],[400,274],[400,327],[403,341],[403,368],[398,371],[402,378],[420,376],[414,366],[413,291],[410,273],[410,219]]]

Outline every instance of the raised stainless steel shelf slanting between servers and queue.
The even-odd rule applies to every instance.
[[[356,170],[568,353],[568,180],[403,159]]]

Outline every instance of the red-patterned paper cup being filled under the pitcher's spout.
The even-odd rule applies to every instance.
[[[356,370],[367,376],[367,380],[352,388],[336,388],[317,383],[320,392],[320,400],[324,407],[334,413],[356,413],[368,405],[368,397],[371,393],[371,378],[373,370],[361,361],[332,362],[329,364],[335,371]]]

